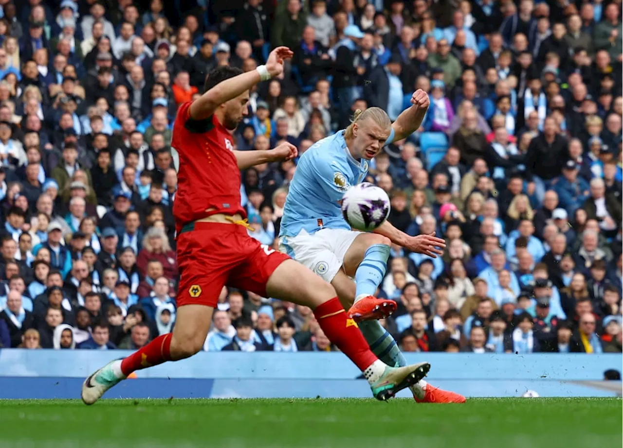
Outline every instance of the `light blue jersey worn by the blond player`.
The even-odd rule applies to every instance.
[[[394,139],[392,128],[388,140]],[[321,228],[348,229],[339,201],[351,185],[368,174],[369,162],[354,159],[344,130],[313,144],[300,157],[283,208],[279,236],[310,235]]]

